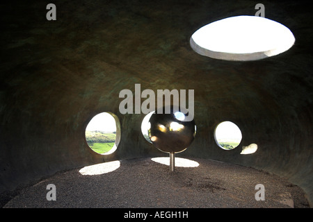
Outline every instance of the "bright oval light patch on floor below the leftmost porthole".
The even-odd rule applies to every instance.
[[[94,164],[87,167],[83,167],[79,170],[81,175],[100,175],[104,173],[110,173],[120,167],[120,161],[104,162],[102,164]]]

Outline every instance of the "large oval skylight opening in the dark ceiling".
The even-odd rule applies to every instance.
[[[264,17],[241,15],[212,22],[195,31],[191,48],[220,60],[260,60],[294,45],[289,28]]]

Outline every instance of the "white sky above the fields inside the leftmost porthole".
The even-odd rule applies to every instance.
[[[107,112],[102,112],[97,114],[91,121],[88,123],[86,130],[94,131],[100,130],[104,132],[115,132],[116,124],[115,119],[111,116],[111,114]]]

